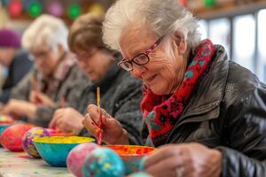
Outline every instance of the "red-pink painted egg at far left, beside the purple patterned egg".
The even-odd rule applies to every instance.
[[[1,135],[2,145],[8,150],[23,151],[22,137],[27,130],[33,127],[31,124],[17,124],[7,127]]]

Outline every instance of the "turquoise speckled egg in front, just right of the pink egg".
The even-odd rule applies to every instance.
[[[84,177],[120,177],[125,174],[121,158],[109,148],[93,150],[82,166]]]

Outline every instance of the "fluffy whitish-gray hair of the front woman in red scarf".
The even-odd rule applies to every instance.
[[[192,49],[200,43],[197,19],[177,0],[118,0],[106,12],[104,42],[113,50],[120,50],[123,30],[136,23],[151,29],[158,37],[178,31]],[[172,53],[169,48],[166,51]]]

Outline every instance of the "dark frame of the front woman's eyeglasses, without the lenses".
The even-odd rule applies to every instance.
[[[156,42],[154,42],[153,45],[148,50],[145,50],[144,53],[139,53],[139,54],[137,54],[137,56],[135,56],[134,58],[131,58],[129,60],[122,58],[121,61],[117,65],[119,65],[121,68],[123,68],[124,70],[126,70],[128,72],[133,70],[133,63],[136,65],[146,65],[150,61],[149,54],[152,53],[153,50],[160,44],[160,42],[162,41],[164,36],[165,35],[160,36],[160,38]],[[143,56],[143,55],[147,58],[147,61],[140,64],[139,62],[137,62],[136,58],[138,58],[139,56]],[[126,68],[126,67],[121,66],[124,64],[130,65],[130,67]]]

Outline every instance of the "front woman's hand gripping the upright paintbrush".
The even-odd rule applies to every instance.
[[[89,113],[86,114],[83,125],[91,135],[97,136],[100,117],[98,106],[90,104],[87,110]],[[121,123],[117,119],[112,118],[105,110],[101,109],[101,113],[102,140],[108,144],[129,144],[128,133],[121,127]]]

